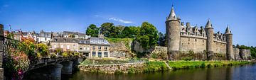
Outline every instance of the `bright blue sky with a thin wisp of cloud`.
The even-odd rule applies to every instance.
[[[63,30],[85,33],[88,25],[142,25],[152,23],[165,33],[165,21],[174,4],[181,22],[233,33],[233,44],[256,46],[255,0],[0,0],[0,23],[5,30]]]

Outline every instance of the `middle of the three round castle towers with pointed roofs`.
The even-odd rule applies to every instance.
[[[213,60],[214,53],[213,53],[213,27],[210,23],[210,19],[206,23],[206,55],[208,60]]]

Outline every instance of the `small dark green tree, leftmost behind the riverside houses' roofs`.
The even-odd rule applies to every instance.
[[[91,35],[92,37],[97,37],[99,33],[99,28],[95,24],[90,24],[86,29],[86,35]]]

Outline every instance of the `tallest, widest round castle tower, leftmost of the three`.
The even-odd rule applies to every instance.
[[[181,38],[180,20],[174,12],[174,6],[172,6],[171,13],[166,18],[167,54],[170,60],[176,59],[176,54],[179,52]]]

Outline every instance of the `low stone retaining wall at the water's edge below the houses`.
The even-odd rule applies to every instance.
[[[131,69],[143,69],[144,62],[137,63],[126,63],[126,64],[88,64],[88,65],[79,65],[80,70],[86,72],[100,72],[107,74],[114,73],[128,73]],[[138,71],[142,72],[142,71]]]

